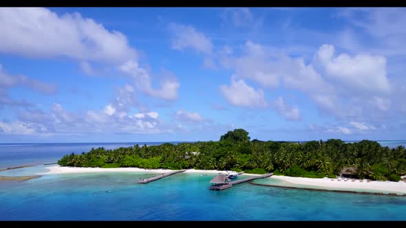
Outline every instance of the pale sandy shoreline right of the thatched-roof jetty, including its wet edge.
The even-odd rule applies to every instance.
[[[266,179],[264,179],[266,180]],[[281,182],[275,182],[278,180]],[[253,185],[265,185],[270,187],[286,187],[299,190],[318,190],[318,191],[331,191],[331,192],[350,192],[350,193],[365,193],[365,194],[385,194],[406,196],[406,182],[405,181],[370,181],[356,180],[352,181],[347,179],[312,179],[306,177],[293,177],[293,176],[270,176],[268,183],[266,181],[253,182]]]

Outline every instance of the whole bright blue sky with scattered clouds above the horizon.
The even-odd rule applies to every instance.
[[[1,8],[0,143],[405,139],[404,8]]]

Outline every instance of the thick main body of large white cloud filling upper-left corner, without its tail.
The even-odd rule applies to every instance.
[[[136,57],[125,35],[77,12],[58,15],[46,8],[1,8],[0,27],[3,53],[115,63]]]

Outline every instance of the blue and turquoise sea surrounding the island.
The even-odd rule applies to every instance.
[[[380,143],[406,145],[406,141]],[[43,163],[56,162],[71,152],[135,144],[0,144],[0,168],[38,164],[0,175],[46,172]],[[29,181],[0,181],[0,220],[406,220],[406,197],[249,183],[210,191],[209,181],[215,174],[181,173],[148,184],[137,183],[138,178],[153,175],[47,174]]]

